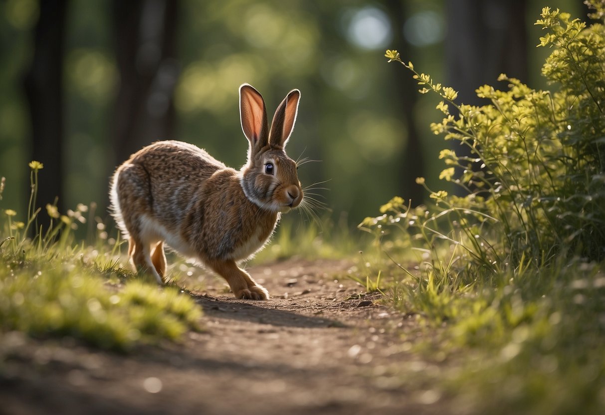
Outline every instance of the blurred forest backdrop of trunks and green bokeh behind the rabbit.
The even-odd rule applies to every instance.
[[[422,203],[442,138],[432,97],[384,50],[431,73],[460,100],[500,73],[545,87],[533,23],[543,1],[8,0],[0,13],[0,175],[5,206],[25,211],[30,160],[44,163],[38,204],[107,212],[111,172],[156,140],[207,149],[238,168],[247,142],[238,87],[269,112],[302,91],[288,152],[321,160],[326,215],[357,224],[393,195]],[[581,1],[549,1],[586,18]],[[503,85],[502,85],[503,87]],[[345,213],[346,212],[346,213]],[[322,212],[319,212],[322,215]]]

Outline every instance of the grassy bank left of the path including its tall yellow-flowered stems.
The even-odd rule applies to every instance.
[[[113,350],[130,350],[160,339],[178,340],[187,330],[198,330],[201,309],[174,287],[131,279],[116,267],[117,249],[99,238],[96,246],[74,246],[71,230],[85,223],[79,206],[61,216],[55,206],[47,213],[59,219],[44,235],[27,238],[36,222],[32,211],[41,163],[30,163],[31,198],[27,220],[4,211],[0,221],[0,333],[18,330],[38,338],[71,336]],[[105,237],[96,224],[97,237]],[[122,283],[125,283],[122,287]]]

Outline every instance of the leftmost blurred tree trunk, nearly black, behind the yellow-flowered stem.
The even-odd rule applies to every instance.
[[[39,174],[37,207],[53,203],[63,212],[63,55],[67,0],[40,2],[40,17],[34,30],[34,51],[25,71],[24,88],[31,116],[31,158],[44,163]],[[44,212],[38,224],[47,226]]]

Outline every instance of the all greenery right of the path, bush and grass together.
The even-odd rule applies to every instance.
[[[449,358],[433,381],[462,413],[605,410],[605,28],[548,7],[536,24],[554,88],[502,74],[506,90],[477,89],[483,106],[385,54],[440,97],[440,177],[466,195],[418,178],[431,204],[396,197],[359,227],[396,279],[391,304],[439,333],[427,359]]]

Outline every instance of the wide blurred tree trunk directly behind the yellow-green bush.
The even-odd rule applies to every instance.
[[[527,82],[527,5],[528,0],[446,2],[446,77],[458,91],[458,102],[484,105],[475,90],[495,85],[501,73]],[[455,145],[454,151],[470,155],[467,146]],[[463,193],[462,188],[456,191]]]

